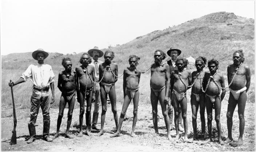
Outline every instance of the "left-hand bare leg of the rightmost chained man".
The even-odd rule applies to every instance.
[[[228,98],[228,111],[227,111],[227,126],[228,126],[228,137],[224,141],[225,143],[229,143],[230,141],[233,141],[232,138],[232,126],[233,126],[233,114],[236,108],[237,101],[233,97],[232,93],[229,93]]]

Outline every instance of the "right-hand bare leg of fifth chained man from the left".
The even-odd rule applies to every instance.
[[[167,112],[167,104],[164,103],[165,89],[163,89],[161,91],[161,93],[159,93],[159,94],[160,94],[159,102],[160,102],[160,105],[161,105],[161,108],[162,108],[162,113],[163,113],[163,116],[164,116],[164,122],[165,122],[165,127],[166,127],[166,130],[167,130],[168,140],[171,140],[172,137],[171,137],[171,134],[170,134],[170,122],[169,122],[169,116],[168,116],[168,112]]]

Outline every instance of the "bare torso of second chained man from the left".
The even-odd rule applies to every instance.
[[[91,65],[87,66],[87,69],[88,69],[88,72],[89,72],[89,75],[90,75],[91,78],[92,78],[92,72],[93,72],[92,68],[94,68],[94,67],[91,66]],[[85,71],[84,71],[84,69],[81,68],[81,66],[76,68],[76,73],[79,77],[80,90],[85,90],[86,88],[87,88],[87,90],[91,89],[92,88],[92,81],[89,78],[89,75],[85,74]]]

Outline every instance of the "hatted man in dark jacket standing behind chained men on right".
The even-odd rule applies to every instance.
[[[171,75],[172,71],[178,69],[177,66],[175,65],[175,62],[177,60],[177,57],[181,54],[181,50],[171,47],[167,51],[167,54],[168,54],[168,56],[171,57],[171,59],[169,61],[167,61],[168,65],[170,67],[170,75]],[[171,98],[171,92],[169,92],[169,97]],[[170,128],[172,130],[173,129],[173,127],[172,127],[172,119],[173,119],[173,106],[172,106],[172,104],[170,105],[170,107],[168,107],[168,115],[169,115],[169,119],[170,119]],[[182,121],[183,121],[183,119],[182,119],[182,116],[181,116],[181,108],[179,108],[179,131],[180,132],[184,131],[184,129],[182,127]]]

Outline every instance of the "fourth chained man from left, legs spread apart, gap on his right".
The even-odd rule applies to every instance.
[[[119,124],[117,128],[117,132],[110,137],[120,136],[120,130],[122,123],[124,121],[124,116],[127,111],[131,100],[133,100],[133,123],[132,123],[132,132],[131,136],[136,136],[134,133],[135,125],[137,122],[137,110],[139,104],[139,83],[140,83],[140,72],[137,71],[136,66],[138,65],[139,57],[133,55],[129,57],[130,67],[124,69],[124,81],[123,81],[123,90],[124,90],[124,104],[122,108],[122,112],[119,118]]]

